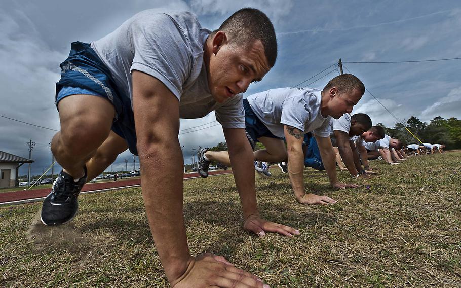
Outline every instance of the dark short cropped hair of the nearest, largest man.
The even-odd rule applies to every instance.
[[[274,67],[277,59],[277,38],[271,20],[260,10],[243,8],[230,15],[211,35],[224,31],[235,39],[237,44],[249,45],[260,40],[264,46],[267,62]]]

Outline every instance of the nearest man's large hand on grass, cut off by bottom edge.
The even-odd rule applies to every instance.
[[[210,253],[190,257],[186,271],[171,282],[173,288],[248,287],[269,288],[257,276],[235,268],[222,256]]]

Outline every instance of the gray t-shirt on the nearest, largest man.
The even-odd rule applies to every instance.
[[[160,80],[179,100],[181,118],[201,118],[216,111],[225,128],[245,128],[243,95],[216,102],[208,88],[203,46],[211,33],[194,14],[167,15],[145,10],[106,37],[91,43],[109,68],[121,97],[133,97],[131,72]]]

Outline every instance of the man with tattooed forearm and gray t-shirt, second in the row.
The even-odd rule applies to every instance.
[[[357,188],[355,184],[338,181],[335,153],[330,140],[330,119],[338,119],[343,113],[350,113],[364,92],[365,86],[360,79],[351,74],[343,74],[330,80],[323,90],[279,88],[249,96],[244,102],[247,137],[253,148],[256,141],[265,146],[265,149],[254,152],[254,159],[277,163],[288,157],[288,174],[295,197],[300,203],[336,203],[330,197],[306,193],[304,190],[303,135],[314,132],[332,187]],[[203,150],[199,157],[199,168],[206,167],[211,160],[230,165],[227,152]],[[200,165],[200,161],[205,165]],[[202,173],[205,174],[204,171]]]

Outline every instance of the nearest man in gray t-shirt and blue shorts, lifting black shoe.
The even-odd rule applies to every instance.
[[[180,118],[216,111],[234,160],[245,230],[263,236],[299,231],[259,217],[253,155],[245,136],[242,96],[274,66],[274,27],[259,10],[246,8],[211,31],[195,15],[146,10],[91,44],[72,43],[61,63],[56,105],[61,130],[51,149],[63,171],[43,202],[41,220],[60,225],[78,211],[77,196],[126,149],[139,155],[147,219],[171,286],[245,283],[255,275],[224,258],[189,253],[184,227]],[[267,286],[267,285],[265,285]]]

